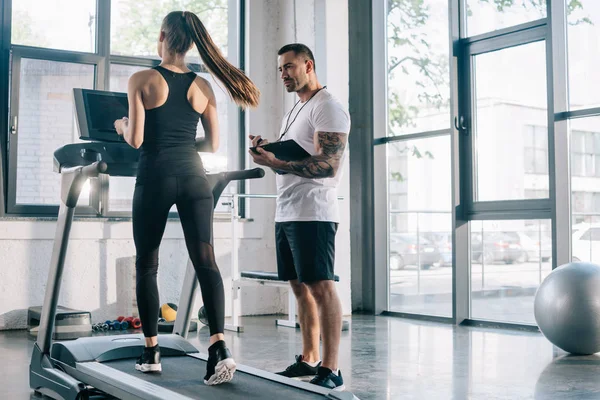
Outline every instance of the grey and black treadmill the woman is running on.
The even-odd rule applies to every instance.
[[[61,202],[39,333],[29,366],[29,385],[34,392],[67,400],[96,396],[127,400],[357,399],[348,391],[329,390],[240,364],[231,382],[205,385],[203,377],[208,355],[186,340],[198,287],[196,273],[189,262],[173,333],[159,333],[158,336],[162,373],[135,370],[135,359],[144,347],[142,334],[105,335],[53,343],[69,233],[82,187],[88,179],[101,174],[135,176],[138,161],[138,151],[124,143],[114,129],[110,131],[112,121],[127,115],[127,95],[74,89],[74,96],[80,138],[90,141],[67,144],[54,152],[54,170],[61,175]],[[91,107],[98,104],[101,104],[102,118],[98,118],[96,108]],[[213,188],[214,204],[218,203],[229,182],[262,176],[264,170],[261,168],[207,174]]]

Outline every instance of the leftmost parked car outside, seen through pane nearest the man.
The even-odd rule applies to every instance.
[[[393,233],[390,235],[390,269],[403,269],[416,265],[429,269],[440,263],[438,248],[423,236],[414,233]]]

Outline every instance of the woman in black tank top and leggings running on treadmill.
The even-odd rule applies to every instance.
[[[224,341],[223,280],[210,244],[212,188],[196,149],[199,121],[205,132],[199,150],[215,152],[219,146],[217,103],[210,83],[184,62],[194,44],[206,68],[223,83],[233,101],[241,107],[258,105],[257,87],[221,55],[200,19],[189,11],[177,11],[162,22],[158,38],[162,62],[129,78],[129,118],[114,125],[127,143],[140,149],[132,217],[136,296],[146,347],[135,368],[161,371],[158,250],[169,210],[175,204],[210,328],[204,383],[216,385],[232,379],[236,364]]]

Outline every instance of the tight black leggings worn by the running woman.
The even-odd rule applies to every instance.
[[[174,176],[137,182],[133,194],[136,295],[144,336],[158,331],[158,249],[173,204],[200,282],[210,334],[223,333],[225,293],[211,245],[212,188],[203,176]]]

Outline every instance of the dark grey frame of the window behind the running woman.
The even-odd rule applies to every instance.
[[[0,0],[0,20],[3,29],[0,30],[0,79],[5,85],[0,85],[0,217],[56,217],[58,205],[21,204],[16,203],[17,180],[17,150],[18,134],[15,135],[13,145],[10,142],[10,121],[12,115],[18,115],[19,104],[19,74],[20,69],[11,71],[14,66],[19,66],[20,60],[36,59],[57,62],[72,62],[94,66],[93,87],[98,90],[109,90],[111,64],[132,65],[141,67],[154,67],[160,63],[159,59],[137,56],[123,56],[110,54],[111,40],[111,4],[108,1],[96,1],[96,51],[94,53],[59,50],[51,48],[37,48],[11,43],[12,2],[14,0]],[[229,18],[229,58],[234,65],[245,69],[245,0],[228,0]],[[234,34],[235,37],[231,37]],[[233,45],[232,45],[233,44]],[[203,65],[189,64],[194,72],[208,72]],[[16,90],[12,90],[16,88]],[[10,107],[9,110],[9,105]],[[245,125],[247,118],[239,107],[228,108],[229,125],[235,127],[228,132],[228,164],[232,169],[243,169],[246,165],[245,152]],[[232,113],[232,111],[235,111]],[[232,154],[235,154],[232,157]],[[110,177],[101,175],[91,181],[89,206],[77,207],[76,215],[86,217],[118,217],[131,218],[131,211],[110,211],[109,208]],[[244,182],[234,186],[236,193],[245,193]],[[57,199],[57,204],[59,199]],[[240,209],[243,213],[243,210]],[[216,214],[219,214],[218,212]],[[169,217],[177,216],[176,212]]]

